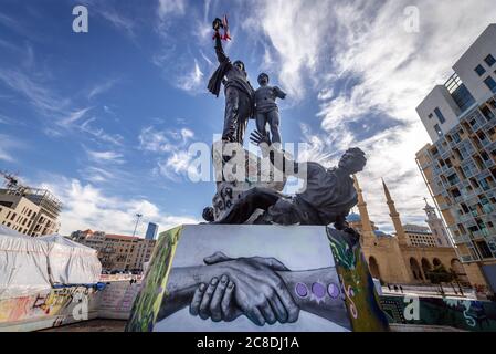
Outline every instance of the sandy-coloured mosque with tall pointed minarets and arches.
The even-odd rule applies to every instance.
[[[358,211],[350,214],[348,222],[361,235],[361,247],[373,278],[390,284],[430,284],[429,271],[440,264],[453,270],[462,285],[471,285],[462,262],[444,227],[443,220],[426,201],[423,209],[429,227],[403,225],[388,186],[382,180],[387,205],[395,232],[379,230],[369,218],[357,177]]]

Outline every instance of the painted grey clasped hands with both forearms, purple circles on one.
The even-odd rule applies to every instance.
[[[157,321],[186,308],[217,323],[244,315],[257,326],[284,325],[304,311],[350,326],[335,267],[291,271],[275,258],[215,252],[201,266],[172,268]]]

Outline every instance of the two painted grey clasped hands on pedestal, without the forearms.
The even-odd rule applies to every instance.
[[[256,325],[294,323],[299,306],[276,273],[289,270],[274,258],[232,259],[217,252],[204,259],[217,267],[219,277],[201,283],[194,292],[190,313],[213,322],[232,322],[246,315]]]

